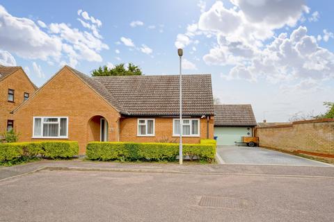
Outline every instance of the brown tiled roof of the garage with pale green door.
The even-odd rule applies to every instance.
[[[214,126],[256,126],[252,106],[214,105]]]

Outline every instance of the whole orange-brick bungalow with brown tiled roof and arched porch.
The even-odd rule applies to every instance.
[[[20,141],[178,142],[179,76],[89,77],[65,66],[17,107]],[[184,143],[214,137],[211,75],[182,76]]]

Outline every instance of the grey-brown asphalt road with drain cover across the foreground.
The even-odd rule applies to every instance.
[[[0,221],[333,221],[333,187],[333,177],[40,171],[0,182]]]

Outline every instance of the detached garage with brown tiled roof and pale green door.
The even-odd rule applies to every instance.
[[[234,145],[241,137],[253,137],[257,125],[252,106],[214,105],[214,135],[217,145]]]

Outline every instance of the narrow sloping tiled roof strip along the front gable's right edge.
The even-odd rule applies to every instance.
[[[119,112],[127,113],[124,108],[118,103],[117,99],[111,95],[111,93],[102,85],[100,82],[94,80],[93,78],[87,76],[86,74],[81,73],[80,71],[77,71],[76,69],[73,69],[72,67],[67,66],[69,69],[71,69],[74,74],[76,74],[81,80],[84,81],[87,85],[89,85],[91,88],[95,90],[98,94],[100,94],[106,101],[111,103],[113,105],[113,108],[116,108]]]

